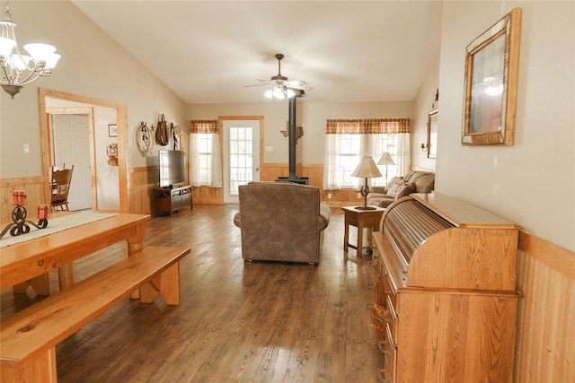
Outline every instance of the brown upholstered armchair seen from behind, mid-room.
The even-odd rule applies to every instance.
[[[319,265],[323,230],[332,213],[320,204],[318,187],[289,182],[251,182],[239,187],[244,261],[268,260]]]

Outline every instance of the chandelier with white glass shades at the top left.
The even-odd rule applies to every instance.
[[[14,27],[8,2],[2,12],[0,21],[0,85],[12,98],[24,85],[40,76],[49,76],[56,66],[60,55],[54,53],[56,48],[48,44],[26,44],[24,49],[30,56],[22,55],[16,42]]]

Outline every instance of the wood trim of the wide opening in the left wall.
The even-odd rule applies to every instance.
[[[42,175],[44,178],[44,201],[49,203],[51,195],[51,180],[49,171],[51,166],[50,132],[46,116],[46,98],[68,100],[105,108],[116,109],[116,124],[118,125],[118,172],[119,172],[119,213],[129,213],[128,198],[128,105],[119,102],[95,99],[93,97],[55,91],[46,88],[38,89],[38,104],[40,116],[40,148],[42,152]],[[94,167],[95,168],[95,167]],[[93,182],[95,185],[95,182]]]

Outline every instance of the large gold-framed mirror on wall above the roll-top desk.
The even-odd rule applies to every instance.
[[[466,48],[464,145],[513,144],[520,28],[515,8]]]

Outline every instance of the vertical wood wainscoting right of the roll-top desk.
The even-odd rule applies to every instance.
[[[515,381],[575,382],[575,253],[521,232]]]

